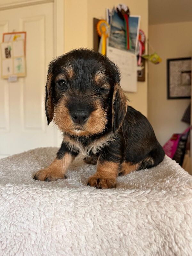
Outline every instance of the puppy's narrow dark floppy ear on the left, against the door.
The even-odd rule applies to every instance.
[[[45,85],[45,111],[47,116],[47,125],[49,125],[54,116],[54,106],[52,102],[52,65],[50,64],[47,73],[47,82]]]

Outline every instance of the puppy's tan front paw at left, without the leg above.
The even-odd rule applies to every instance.
[[[53,181],[58,179],[66,179],[65,174],[58,173],[57,171],[49,168],[42,169],[38,171],[33,177],[34,180],[42,181]]]

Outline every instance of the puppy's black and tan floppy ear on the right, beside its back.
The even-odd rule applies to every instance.
[[[114,84],[112,98],[112,126],[113,132],[116,132],[123,123],[127,113],[127,98],[119,83]]]

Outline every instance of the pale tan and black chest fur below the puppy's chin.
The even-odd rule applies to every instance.
[[[68,148],[75,152],[81,152],[86,156],[98,156],[102,149],[114,140],[113,136],[103,136],[94,140],[78,140],[64,135],[63,140],[67,142]]]

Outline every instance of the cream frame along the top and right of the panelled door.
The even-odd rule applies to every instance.
[[[25,7],[36,4],[53,3],[53,54],[54,57],[62,55],[65,49],[65,0],[17,0],[12,3],[12,0],[1,0],[0,11]],[[61,133],[54,129],[54,146],[59,147],[61,141]]]

